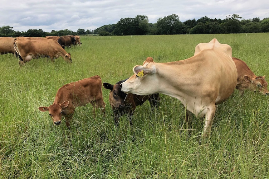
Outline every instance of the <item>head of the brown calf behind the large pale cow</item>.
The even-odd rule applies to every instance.
[[[267,81],[265,80],[265,76],[259,76],[252,79],[251,77],[245,75],[244,80],[250,84],[249,89],[251,89],[252,91],[259,91],[263,95],[268,94]]]

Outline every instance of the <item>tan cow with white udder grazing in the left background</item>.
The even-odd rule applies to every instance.
[[[51,61],[54,61],[54,59],[60,56],[63,57],[64,60],[72,62],[70,53],[67,53],[58,42],[52,39],[16,40],[14,42],[14,49],[20,58],[20,65],[29,62],[31,59],[43,57],[49,57]]]

